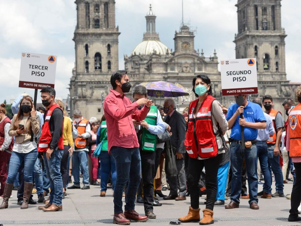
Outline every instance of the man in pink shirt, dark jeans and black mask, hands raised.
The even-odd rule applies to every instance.
[[[116,164],[116,185],[114,190],[114,224],[130,224],[130,220],[147,221],[135,211],[137,188],[141,180],[141,158],[139,143],[133,120],[145,119],[151,107],[151,100],[141,98],[136,102],[125,96],[131,89],[126,71],[116,71],[111,76],[110,94],[104,99],[104,115],[107,121],[108,150]],[[144,105],[141,110],[138,107]],[[126,192],[126,205],[122,209],[122,194]]]

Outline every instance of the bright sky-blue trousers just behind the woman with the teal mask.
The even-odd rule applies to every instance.
[[[229,165],[230,161],[220,166],[217,171],[217,192],[215,200],[225,200]]]

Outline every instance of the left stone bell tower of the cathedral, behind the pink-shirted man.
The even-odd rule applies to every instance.
[[[70,114],[79,108],[85,118],[101,118],[110,77],[118,70],[118,26],[114,0],[76,0],[74,31],[76,63],[70,81]]]

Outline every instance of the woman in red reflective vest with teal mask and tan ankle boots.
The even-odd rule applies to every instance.
[[[196,100],[189,104],[188,129],[185,149],[189,155],[187,180],[190,190],[191,206],[188,215],[180,217],[181,222],[200,220],[198,183],[205,167],[207,202],[203,209],[200,224],[213,224],[213,207],[217,192],[217,172],[222,161],[221,153],[227,148],[223,135],[228,130],[228,122],[220,103],[211,96],[211,81],[207,75],[197,75],[192,81]]]

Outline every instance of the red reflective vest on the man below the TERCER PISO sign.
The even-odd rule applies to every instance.
[[[54,109],[59,108],[61,109],[57,104],[52,105],[45,116],[45,121],[42,126],[42,135],[39,140],[39,148],[38,152],[45,152],[50,146],[51,140],[52,140],[52,135],[50,133],[50,128],[49,128],[49,121],[51,118],[51,115],[54,111]],[[64,131],[64,119],[63,119],[63,127],[62,130]],[[58,141],[58,149],[63,149],[64,150],[64,142],[63,142],[63,133],[61,135],[61,138]]]

